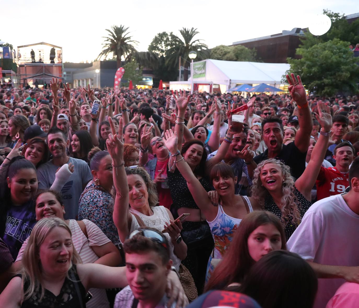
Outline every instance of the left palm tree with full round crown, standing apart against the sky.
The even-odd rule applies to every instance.
[[[121,58],[122,56],[126,57],[130,53],[136,52],[134,45],[137,45],[137,41],[132,40],[130,32],[127,32],[129,27],[125,27],[122,24],[120,27],[112,26],[111,30],[108,31],[108,36],[103,36],[105,38],[103,42],[103,48],[100,54],[97,56],[99,60],[102,56],[106,59],[108,55],[113,54],[117,60],[117,68],[121,67]]]

